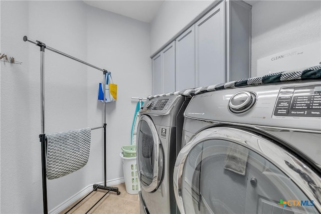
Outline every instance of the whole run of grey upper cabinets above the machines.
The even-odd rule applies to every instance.
[[[156,54],[153,94],[250,77],[251,8],[222,1]]]

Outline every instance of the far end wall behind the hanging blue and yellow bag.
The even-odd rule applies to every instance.
[[[151,91],[149,25],[114,13],[88,7],[87,59],[111,72],[118,85],[117,101],[106,104],[107,180],[123,176],[119,153],[130,145],[130,131],[137,101],[130,97],[147,97]],[[101,124],[102,103],[96,101],[100,73],[88,73],[88,122]],[[93,119],[96,118],[96,119]],[[97,149],[102,154],[103,150]],[[102,156],[97,157],[102,161]],[[100,170],[102,172],[102,168]],[[102,178],[102,177],[101,177]],[[101,180],[101,179],[100,179]]]

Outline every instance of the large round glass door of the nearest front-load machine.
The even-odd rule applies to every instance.
[[[174,169],[181,213],[320,213],[320,186],[319,175],[272,140],[230,127],[197,134]]]

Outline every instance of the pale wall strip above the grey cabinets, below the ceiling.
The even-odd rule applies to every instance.
[[[150,23],[150,56],[219,1],[164,1]]]

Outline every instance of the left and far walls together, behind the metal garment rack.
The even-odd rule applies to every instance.
[[[135,103],[151,81],[148,24],[92,8],[82,1],[1,1],[1,53],[22,65],[1,62],[1,210],[41,213],[40,51],[23,36],[112,72],[118,100],[107,104],[107,180],[123,176],[119,153],[130,144]],[[45,129],[54,133],[100,126],[97,101],[102,72],[45,51]],[[102,129],[92,131],[86,166],[48,180],[48,209],[103,181]]]

